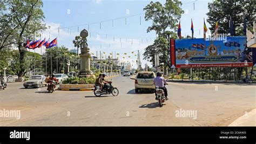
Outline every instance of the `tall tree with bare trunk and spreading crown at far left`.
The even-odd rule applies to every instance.
[[[26,49],[24,43],[27,38],[35,38],[39,36],[39,32],[45,30],[45,24],[42,23],[44,13],[42,11],[43,2],[41,0],[14,0],[5,3],[8,8],[1,18],[1,28],[7,31],[1,35],[1,46],[13,45],[18,47],[19,67],[18,76],[23,77],[26,71]],[[4,29],[4,30],[5,30]],[[2,31],[1,31],[2,32]]]

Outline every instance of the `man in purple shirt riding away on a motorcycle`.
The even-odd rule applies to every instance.
[[[164,86],[164,85],[168,85],[166,83],[166,80],[164,79],[164,77],[162,77],[162,74],[161,72],[157,72],[157,77],[154,78],[154,85],[155,86],[158,86],[158,88],[164,90],[164,93],[165,93],[165,99],[167,100],[167,88]],[[157,91],[155,90],[154,93],[156,94],[156,100],[158,99],[157,98]]]

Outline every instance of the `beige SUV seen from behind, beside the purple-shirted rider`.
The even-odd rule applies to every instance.
[[[154,78],[156,78],[154,72],[139,72],[134,81],[135,92],[138,93],[142,89],[155,90]]]

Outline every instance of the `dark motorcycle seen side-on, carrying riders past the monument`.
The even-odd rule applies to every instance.
[[[107,95],[107,94],[112,94],[113,96],[117,96],[119,94],[117,87],[113,87],[112,81],[110,81],[109,83],[106,83],[105,85],[107,85],[107,90],[103,89],[102,91],[100,91],[99,86],[94,86],[95,89],[93,90],[93,93],[96,97],[100,97],[101,95]]]

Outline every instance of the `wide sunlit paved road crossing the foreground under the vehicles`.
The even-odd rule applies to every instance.
[[[158,107],[152,92],[136,94],[134,80],[112,78],[119,95],[24,89],[9,83],[0,90],[0,110],[19,109],[21,119],[1,118],[1,126],[228,126],[256,106],[255,85],[169,83],[169,100]],[[196,119],[177,111],[197,112]]]

